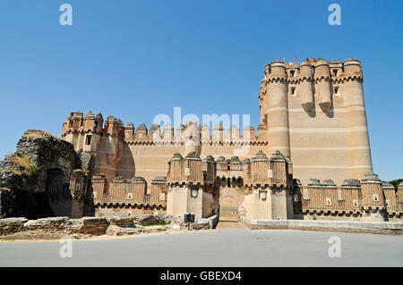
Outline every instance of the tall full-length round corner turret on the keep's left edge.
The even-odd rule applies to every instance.
[[[262,112],[268,127],[268,153],[276,150],[289,156],[288,102],[286,65],[279,61],[266,69],[266,95],[262,101]]]

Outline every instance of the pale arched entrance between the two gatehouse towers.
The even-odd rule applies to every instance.
[[[239,221],[240,197],[236,189],[222,189],[219,193],[219,222]]]

